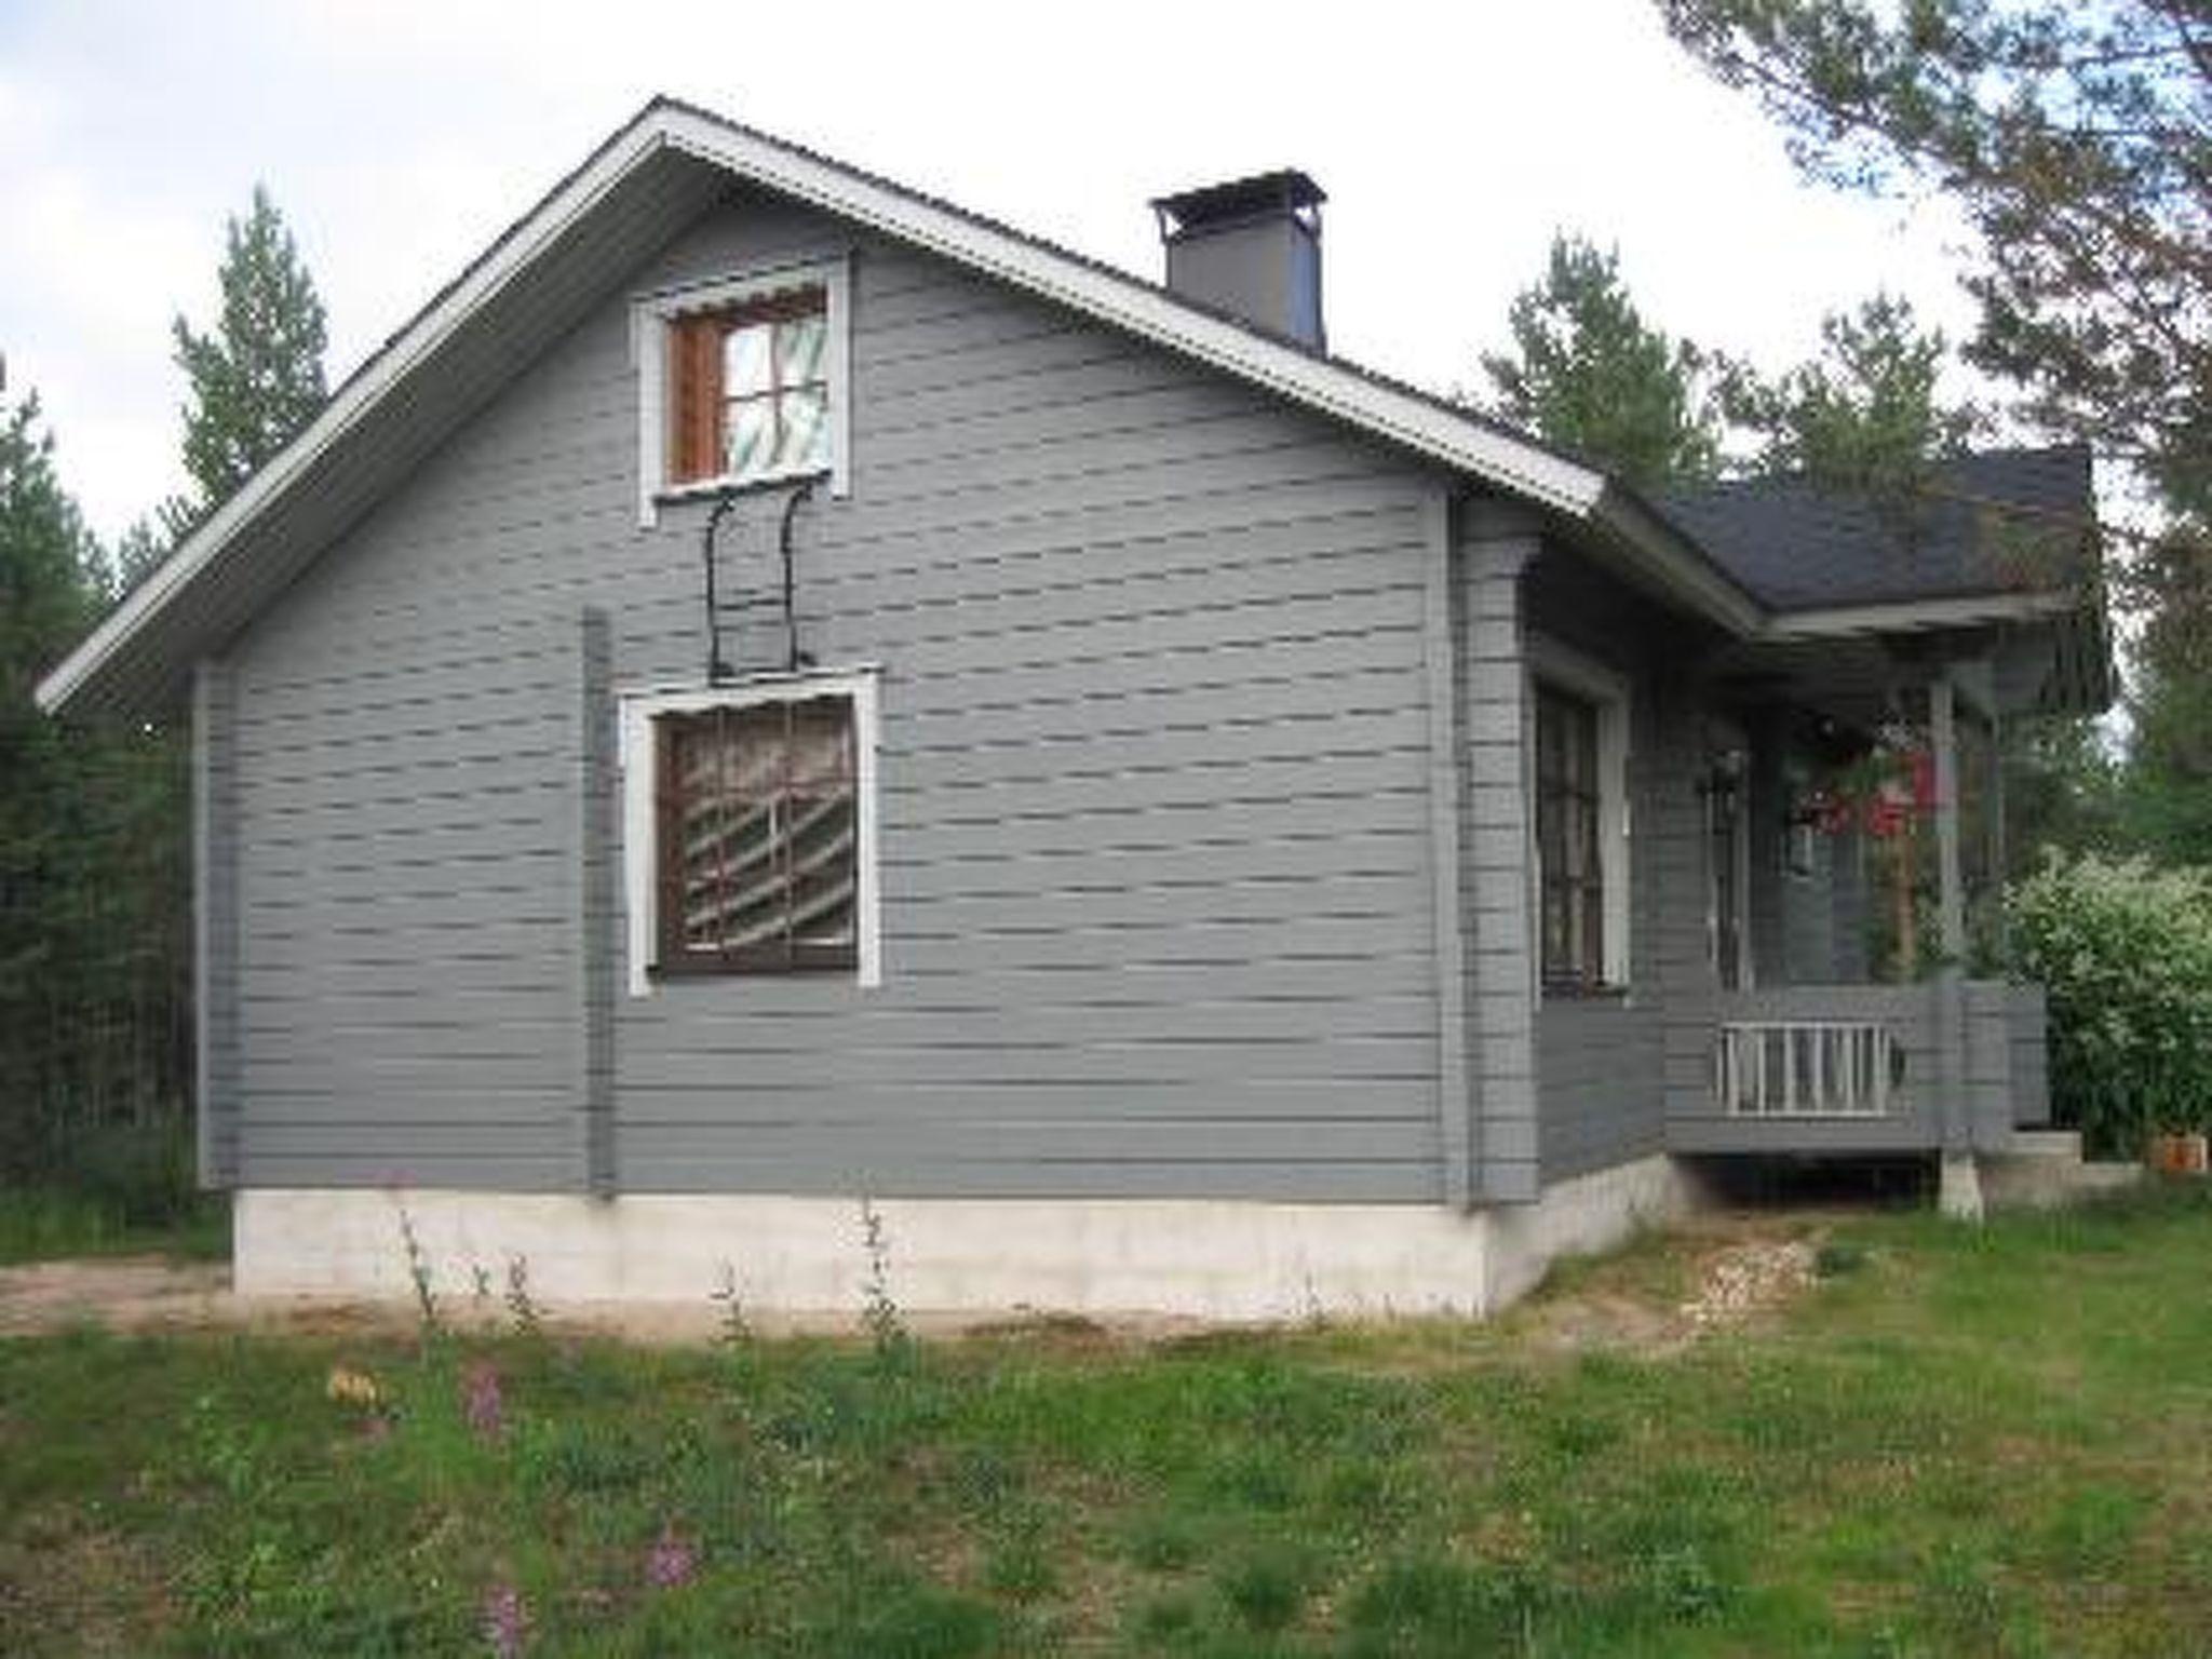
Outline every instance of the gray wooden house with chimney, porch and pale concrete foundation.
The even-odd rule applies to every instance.
[[[867,1201],[911,1307],[1486,1310],[1690,1155],[2039,1117],[1958,805],[2106,697],[2086,460],[1639,500],[1327,356],[1303,175],[1155,206],[1166,285],[655,102],[53,670],[192,710],[241,1290],[405,1210],[836,1307]],[[1807,830],[1889,719],[1902,987]]]

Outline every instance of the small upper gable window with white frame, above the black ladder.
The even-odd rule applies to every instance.
[[[803,478],[845,493],[847,294],[836,261],[639,301],[639,522],[670,495]]]

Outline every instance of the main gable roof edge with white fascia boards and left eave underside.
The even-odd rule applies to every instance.
[[[653,100],[440,290],[38,686],[46,710],[148,710],[407,476],[518,361],[582,321],[655,230],[730,179],[951,259],[1261,385],[1586,531],[1732,633],[1763,608],[1688,535],[1588,462],[1155,283],[701,108]]]

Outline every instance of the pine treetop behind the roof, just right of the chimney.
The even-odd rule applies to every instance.
[[[1619,254],[1553,237],[1542,281],[1509,312],[1511,354],[1484,354],[1495,409],[1641,487],[1710,478],[1719,425],[1705,356],[1644,321]]]

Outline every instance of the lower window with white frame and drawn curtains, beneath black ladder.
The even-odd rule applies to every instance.
[[[624,706],[633,991],[701,973],[854,973],[874,953],[874,679]]]

